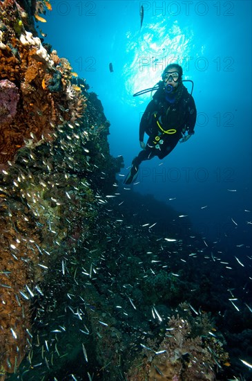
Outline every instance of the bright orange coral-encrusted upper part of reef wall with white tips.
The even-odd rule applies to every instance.
[[[27,140],[37,144],[53,139],[55,125],[81,118],[85,101],[72,87],[68,61],[47,51],[41,39],[25,29],[27,13],[21,6],[6,0],[0,9],[1,94],[5,89],[0,104],[1,165],[12,161]]]

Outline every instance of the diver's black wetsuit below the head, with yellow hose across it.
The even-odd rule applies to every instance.
[[[138,168],[142,161],[152,159],[154,156],[159,159],[166,157],[182,138],[182,132],[194,133],[196,116],[193,97],[188,94],[183,84],[177,89],[171,101],[167,100],[164,89],[158,89],[140,122],[139,141],[144,141],[144,132],[149,138],[146,148],[133,159],[133,166]],[[168,134],[164,132],[167,130],[176,132]]]

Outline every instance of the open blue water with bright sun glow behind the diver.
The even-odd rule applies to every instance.
[[[184,79],[194,82],[195,135],[162,161],[144,161],[140,182],[132,188],[166,202],[177,216],[188,216],[185,226],[191,220],[206,242],[220,242],[233,252],[244,245],[248,254],[251,1],[50,2],[47,23],[39,23],[45,42],[99,96],[111,124],[110,153],[124,157],[121,175],[140,150],[139,120],[151,100],[150,93],[133,94],[153,87],[166,64],[182,65]]]

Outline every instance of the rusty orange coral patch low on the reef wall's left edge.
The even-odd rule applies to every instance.
[[[39,239],[29,223],[28,210],[21,202],[12,202],[10,206],[1,199],[0,210],[0,370],[11,373],[30,346],[30,294],[25,285],[32,290],[39,254],[35,245],[39,245]]]

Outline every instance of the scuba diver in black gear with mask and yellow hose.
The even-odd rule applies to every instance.
[[[155,156],[163,159],[175,148],[178,141],[184,143],[194,134],[197,111],[193,96],[182,83],[182,76],[183,69],[179,64],[169,64],[164,69],[162,81],[153,87],[157,91],[148,103],[139,125],[142,151],[133,159],[124,184],[131,184],[137,178],[142,161]],[[153,89],[139,91],[134,96]],[[149,136],[146,144],[144,133]]]

